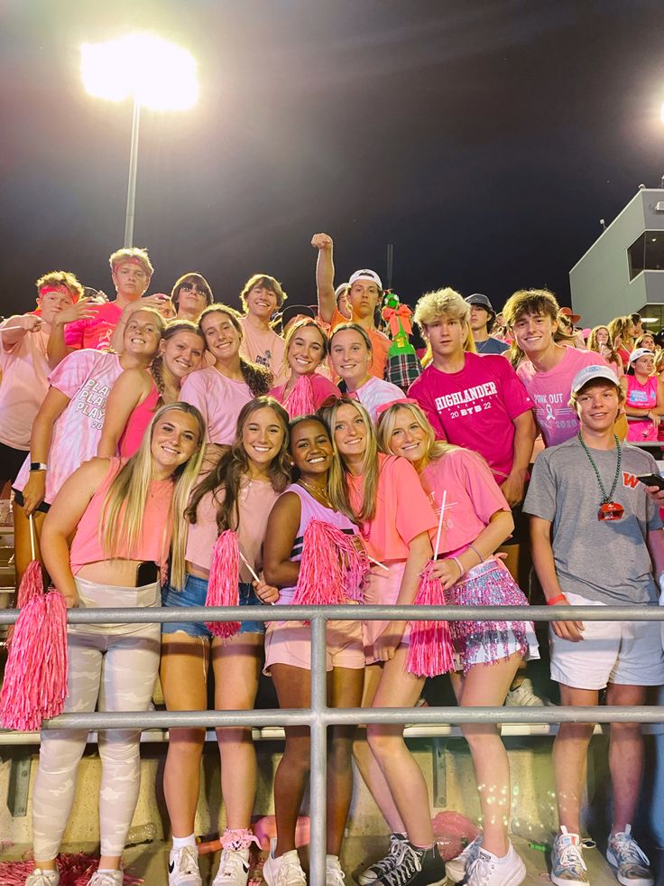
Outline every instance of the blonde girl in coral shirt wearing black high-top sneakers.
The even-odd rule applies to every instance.
[[[364,406],[344,397],[321,414],[335,452],[330,500],[359,525],[368,553],[388,567],[387,572],[372,568],[364,601],[408,605],[433,553],[429,531],[438,521],[429,498],[409,462],[377,451]],[[409,643],[404,621],[364,623],[364,707],[410,707],[420,698],[424,678],[406,668]],[[366,742],[355,742],[355,760],[392,828],[394,851],[364,872],[360,882],[380,881],[398,866],[400,886],[443,884],[445,865],[434,841],[429,790],[403,741],[403,725],[368,725],[366,737]]]

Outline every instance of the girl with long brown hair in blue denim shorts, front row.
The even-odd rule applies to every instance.
[[[189,534],[186,574],[171,573],[164,588],[164,606],[203,606],[211,570],[219,560],[223,533],[235,538],[235,592],[239,605],[259,605],[252,575],[261,571],[261,547],[274,501],[291,480],[287,456],[288,415],[272,397],[259,396],[240,411],[235,440],[217,465],[194,490],[187,518]],[[230,532],[229,532],[230,530]],[[234,535],[235,534],[235,535]],[[237,555],[239,549],[239,556]],[[217,552],[217,554],[216,554]],[[239,581],[239,592],[238,592]],[[161,685],[169,711],[208,708],[210,661],[215,676],[217,710],[254,707],[263,657],[263,621],[243,621],[239,632],[223,640],[222,622],[179,621],[164,624],[161,643]],[[173,848],[169,860],[171,886],[200,886],[194,836],[200,759],[205,729],[171,729],[164,795],[171,817]],[[239,883],[248,876],[249,830],[256,792],[256,755],[251,729],[217,729],[221,755],[221,793],[226,807],[226,833],[215,886]]]

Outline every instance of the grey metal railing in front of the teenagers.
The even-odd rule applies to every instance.
[[[422,620],[421,606],[363,606],[362,620]],[[18,610],[0,611],[0,624],[13,624]],[[44,729],[147,729],[169,726],[309,726],[311,822],[309,882],[325,882],[327,727],[365,723],[664,723],[659,705],[621,707],[327,707],[326,628],[328,620],[356,621],[356,605],[234,606],[162,609],[73,609],[71,624],[153,624],[179,621],[304,621],[311,624],[311,704],[309,710],[145,711],[63,713]],[[435,621],[661,621],[658,606],[431,606]]]

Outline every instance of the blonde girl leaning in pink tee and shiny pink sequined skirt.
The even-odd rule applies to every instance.
[[[383,452],[414,465],[436,506],[446,504],[440,546],[444,559],[436,561],[432,572],[447,592],[447,602],[528,605],[503,563],[493,558],[512,532],[513,521],[482,456],[436,441],[415,401],[402,400],[383,410],[377,435]],[[502,705],[521,658],[539,658],[530,624],[453,621],[450,628],[457,653],[457,673],[451,678],[461,706]],[[500,733],[491,723],[466,723],[461,728],[475,766],[484,835],[447,864],[447,873],[455,881],[467,876],[472,886],[521,883],[525,867],[507,834],[510,766]]]

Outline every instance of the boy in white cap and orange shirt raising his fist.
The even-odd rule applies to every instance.
[[[318,288],[318,314],[323,322],[330,326],[330,331],[348,318],[337,308],[335,294],[335,266],[332,257],[333,243],[329,234],[314,234],[311,246],[318,249],[316,263],[316,284]],[[350,308],[350,322],[362,326],[369,335],[374,352],[369,372],[376,378],[383,378],[387,366],[387,352],[391,341],[376,328],[376,309],[383,302],[383,283],[375,271],[369,268],[355,271],[348,280],[346,299]]]

